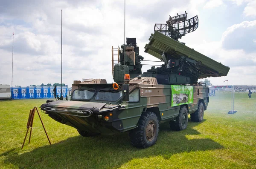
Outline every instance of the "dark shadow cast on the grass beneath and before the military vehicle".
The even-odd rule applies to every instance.
[[[18,168],[118,168],[134,158],[161,155],[170,158],[182,152],[221,149],[211,139],[187,139],[187,135],[199,135],[193,129],[200,123],[189,122],[186,130],[170,131],[169,124],[160,124],[157,143],[147,149],[137,149],[129,143],[128,133],[96,137],[71,137],[52,146],[43,146],[23,154],[5,152],[4,162]],[[19,147],[20,148],[20,147]],[[22,150],[20,151],[22,152]]]

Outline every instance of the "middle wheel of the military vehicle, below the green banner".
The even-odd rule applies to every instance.
[[[170,128],[176,131],[185,130],[188,126],[188,109],[186,106],[180,107],[180,112],[176,121],[170,121]]]

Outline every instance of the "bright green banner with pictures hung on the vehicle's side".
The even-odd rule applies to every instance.
[[[193,86],[171,85],[172,106],[193,103]]]

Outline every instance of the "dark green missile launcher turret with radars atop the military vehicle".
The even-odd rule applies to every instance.
[[[158,62],[162,62],[162,65],[160,67],[152,66],[147,72],[142,73],[141,70],[143,66],[141,61],[144,57],[139,55],[136,38],[126,38],[127,44],[121,46],[118,60],[120,60],[121,65],[128,68],[122,69],[128,69],[126,73],[130,74],[131,78],[139,75],[141,77],[155,77],[158,84],[196,84],[200,78],[226,76],[229,67],[178,41],[181,37],[198,28],[198,16],[186,19],[187,13],[185,11],[185,14],[170,16],[166,23],[155,24],[154,34],[149,37],[144,52],[159,59]],[[120,82],[122,76],[119,73],[116,73],[116,76],[119,76],[119,80],[115,82]],[[115,79],[116,77],[114,77]]]

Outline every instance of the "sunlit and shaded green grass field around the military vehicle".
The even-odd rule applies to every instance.
[[[235,95],[236,114],[229,115],[231,94],[216,92],[204,114],[204,121],[189,120],[186,130],[174,132],[160,125],[156,145],[137,149],[128,133],[81,137],[76,129],[52,120],[40,112],[52,145],[38,115],[35,115],[31,143],[26,134],[29,110],[45,99],[0,102],[0,169],[7,168],[256,168],[256,99],[246,93]],[[218,110],[221,109],[221,110]]]

